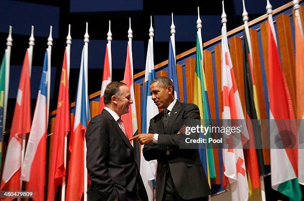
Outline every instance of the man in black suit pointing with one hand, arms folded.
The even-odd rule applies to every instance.
[[[207,201],[211,191],[198,149],[179,147],[186,137],[181,122],[200,119],[198,107],[177,101],[167,77],[152,80],[150,91],[155,105],[163,111],[151,119],[149,134],[131,139],[145,144],[146,160],[157,159],[156,201]]]

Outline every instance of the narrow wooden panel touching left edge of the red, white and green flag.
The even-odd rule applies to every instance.
[[[262,39],[262,49],[263,49],[263,58],[264,58],[264,67],[265,67],[265,75],[266,75],[266,84],[268,88],[268,21],[266,20],[261,24],[261,39]]]

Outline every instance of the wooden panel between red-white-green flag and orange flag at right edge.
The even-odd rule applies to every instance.
[[[295,49],[290,24],[290,17],[281,14],[277,17],[278,44],[281,53],[282,68],[289,88],[294,111],[297,111],[296,104],[296,61]]]

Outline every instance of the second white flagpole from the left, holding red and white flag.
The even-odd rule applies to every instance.
[[[31,79],[31,71],[32,71],[32,58],[33,58],[33,48],[35,46],[35,38],[34,38],[34,26],[32,25],[31,36],[29,38],[29,48],[28,50],[28,67],[29,67],[29,78]],[[23,169],[23,160],[24,160],[24,153],[25,153],[25,135],[22,134],[22,149],[21,149],[21,172]],[[20,175],[21,176],[21,175]],[[22,191],[22,179],[20,178],[20,191]],[[20,198],[17,199],[20,201]]]

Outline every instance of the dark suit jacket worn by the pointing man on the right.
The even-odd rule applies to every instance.
[[[143,154],[146,160],[157,159],[156,201],[161,201],[165,189],[167,164],[174,186],[184,200],[211,194],[208,180],[200,160],[198,149],[179,149],[179,140],[185,134],[177,134],[183,119],[200,119],[200,111],[194,104],[176,102],[168,120],[167,134],[162,130],[163,112],[150,121],[149,133],[159,134],[157,144],[146,144]],[[172,149],[166,155],[167,149]]]

